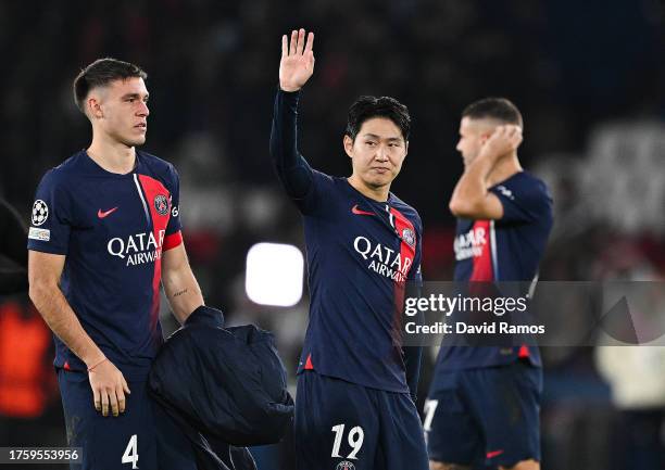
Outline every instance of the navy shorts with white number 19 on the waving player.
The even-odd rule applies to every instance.
[[[368,389],[308,370],[296,396],[298,470],[427,470],[409,393]]]

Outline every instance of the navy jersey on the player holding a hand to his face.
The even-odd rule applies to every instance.
[[[530,281],[552,228],[552,199],[543,181],[519,172],[490,188],[503,205],[499,220],[457,219],[454,240],[457,282]],[[526,292],[524,293],[526,294]],[[510,364],[528,358],[540,366],[535,346],[454,346],[446,338],[437,370],[455,370]]]

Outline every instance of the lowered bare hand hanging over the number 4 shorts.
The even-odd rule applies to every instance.
[[[117,367],[109,359],[98,364],[88,372],[95,409],[103,416],[109,416],[109,407],[113,416],[125,411],[125,393],[130,394],[129,385]]]

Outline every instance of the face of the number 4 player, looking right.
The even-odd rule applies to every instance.
[[[127,147],[145,143],[150,112],[143,79],[114,80],[98,91],[99,107],[93,112],[104,134]]]

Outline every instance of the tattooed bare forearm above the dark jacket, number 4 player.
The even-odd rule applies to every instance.
[[[201,288],[188,263],[165,272],[162,282],[171,309],[180,323],[204,304]]]

